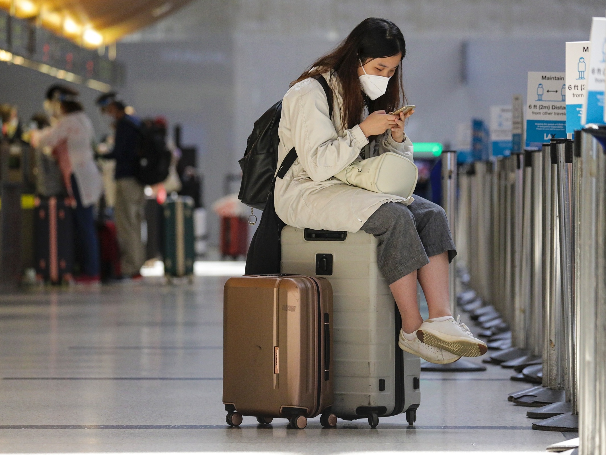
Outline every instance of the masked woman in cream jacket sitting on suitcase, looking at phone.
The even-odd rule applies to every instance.
[[[298,160],[276,180],[275,207],[290,226],[375,235],[379,269],[402,315],[400,347],[428,362],[450,363],[480,356],[487,346],[450,312],[448,263],[456,249],[444,211],[416,195],[404,199],[333,178],[359,157],[394,152],[412,159],[413,144],[404,133],[412,112],[386,113],[404,99],[405,52],[393,22],[368,18],[293,83],[282,101],[278,166],[292,147]],[[331,118],[318,75],[333,90]],[[429,307],[425,321],[417,280]]]

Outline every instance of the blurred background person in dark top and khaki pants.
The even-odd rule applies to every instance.
[[[145,249],[141,242],[145,195],[143,185],[135,178],[135,172],[141,123],[136,117],[125,112],[126,106],[119,99],[118,93],[105,93],[97,98],[96,104],[115,128],[113,150],[102,157],[116,160],[114,216],[121,252],[122,275],[140,278],[139,271],[145,261]]]

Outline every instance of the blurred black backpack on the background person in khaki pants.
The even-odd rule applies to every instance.
[[[144,185],[166,180],[172,155],[165,141],[165,130],[155,124],[141,123],[135,177]]]

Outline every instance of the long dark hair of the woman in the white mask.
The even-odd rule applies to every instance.
[[[358,79],[360,61],[366,64],[374,58],[391,57],[401,54],[406,56],[406,43],[404,36],[394,24],[387,19],[368,18],[356,25],[351,33],[330,53],[317,59],[309,68],[313,71],[304,72],[293,84],[307,78],[318,76],[327,70],[335,70],[342,87],[343,112],[341,123],[344,128],[352,128],[362,120],[364,105],[368,112],[385,110],[393,112],[404,101],[404,87],[402,87],[402,73],[400,66],[396,68],[384,95],[371,101],[362,92]],[[308,69],[309,69],[308,68]]]

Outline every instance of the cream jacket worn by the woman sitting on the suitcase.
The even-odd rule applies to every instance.
[[[282,100],[278,167],[292,147],[298,158],[283,179],[276,179],[276,214],[290,226],[358,232],[382,204],[412,200],[350,186],[333,175],[358,157],[394,152],[412,160],[413,144],[407,136],[397,143],[390,130],[369,144],[358,125],[342,129],[338,78],[330,73],[324,78],[333,89],[332,119],[324,89],[316,79],[295,84]]]

